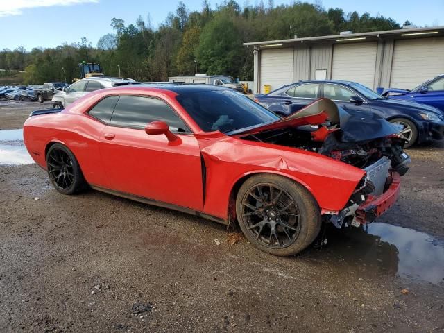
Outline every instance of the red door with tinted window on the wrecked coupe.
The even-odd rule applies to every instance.
[[[146,134],[152,121],[167,122],[177,138]],[[120,96],[102,133],[101,156],[110,189],[203,210],[198,141],[165,101]]]

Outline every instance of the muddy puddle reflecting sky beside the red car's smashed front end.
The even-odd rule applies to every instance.
[[[398,274],[402,278],[444,284],[444,247],[428,234],[386,223],[368,228],[328,230],[328,244],[308,257],[337,266],[363,269],[366,274]]]

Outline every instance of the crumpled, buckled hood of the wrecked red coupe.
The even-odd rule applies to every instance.
[[[316,126],[325,123],[339,125],[341,142],[361,142],[377,139],[398,133],[401,129],[400,126],[389,123],[373,112],[345,111],[330,99],[318,99],[288,117],[260,126],[242,128],[228,133],[228,135],[254,135],[267,130],[307,125]]]

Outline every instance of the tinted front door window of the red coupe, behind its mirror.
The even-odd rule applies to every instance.
[[[121,96],[114,108],[111,125],[143,129],[151,121],[165,121],[173,132],[190,132],[167,103],[141,96]]]

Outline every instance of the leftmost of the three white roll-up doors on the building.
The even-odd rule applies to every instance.
[[[293,49],[261,51],[260,89],[271,85],[271,90],[293,83]]]

